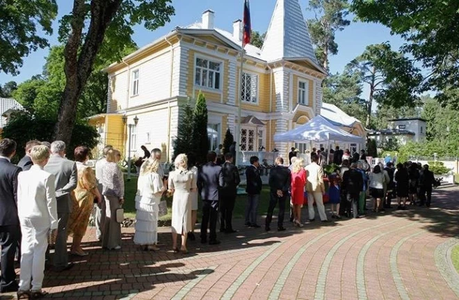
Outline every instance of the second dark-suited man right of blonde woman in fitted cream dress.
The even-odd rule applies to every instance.
[[[233,164],[233,155],[225,155],[222,166],[223,187],[220,190],[220,232],[234,233],[232,226],[234,204],[236,202],[237,186],[241,183],[239,171]]]

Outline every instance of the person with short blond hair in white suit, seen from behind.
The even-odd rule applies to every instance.
[[[49,159],[45,145],[32,148],[33,166],[19,173],[17,206],[22,231],[21,275],[17,298],[38,299],[45,295],[42,282],[45,271],[45,253],[50,230],[58,228],[54,175],[43,171]]]

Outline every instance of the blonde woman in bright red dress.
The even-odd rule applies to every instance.
[[[293,163],[291,172],[291,203],[293,204],[293,223],[303,227],[301,223],[301,207],[305,202],[306,171],[303,159]]]

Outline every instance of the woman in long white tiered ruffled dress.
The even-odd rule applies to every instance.
[[[137,182],[136,233],[134,244],[143,251],[157,251],[158,212],[161,195],[165,190],[158,172],[159,160],[150,157],[142,164]]]

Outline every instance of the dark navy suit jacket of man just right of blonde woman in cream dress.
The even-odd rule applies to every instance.
[[[213,162],[204,164],[198,172],[198,189],[202,200],[218,201],[218,190],[223,187],[222,167]]]

